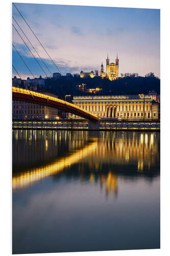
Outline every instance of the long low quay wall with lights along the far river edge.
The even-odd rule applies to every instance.
[[[85,119],[12,120],[13,129],[30,130],[85,130],[85,131],[160,131],[158,120],[100,120],[91,123]]]

